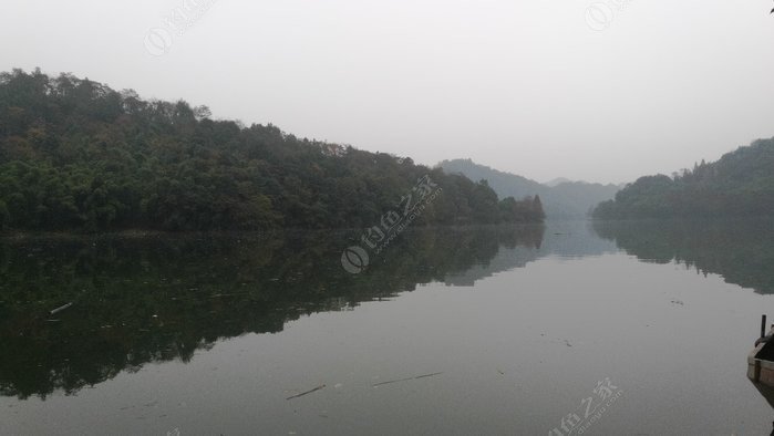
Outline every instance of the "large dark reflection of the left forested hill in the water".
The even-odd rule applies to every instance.
[[[279,332],[305,314],[454,281],[474,267],[477,277],[520,267],[523,257],[491,261],[500,248],[536,258],[544,231],[415,229],[358,276],[339,263],[350,233],[4,240],[0,395],[74,394],[148,362],[187,362],[219,339]]]

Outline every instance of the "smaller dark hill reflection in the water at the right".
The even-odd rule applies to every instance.
[[[595,222],[594,229],[642,261],[677,261],[758,293],[774,293],[771,220]]]

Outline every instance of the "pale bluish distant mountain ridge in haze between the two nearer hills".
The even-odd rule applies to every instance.
[[[516,174],[476,164],[472,159],[443,160],[437,166],[446,174],[462,174],[476,181],[487,180],[489,187],[500,198],[524,198],[538,195],[549,220],[586,218],[595,206],[612,199],[620,189],[619,186],[612,184],[569,181],[566,178],[557,178],[541,184]]]

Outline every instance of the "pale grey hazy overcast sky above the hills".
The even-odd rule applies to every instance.
[[[429,165],[619,183],[774,136],[772,7],[0,0],[0,70],[72,72]]]

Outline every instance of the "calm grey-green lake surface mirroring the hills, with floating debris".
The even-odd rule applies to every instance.
[[[770,222],[361,233],[0,240],[0,434],[772,430]]]

